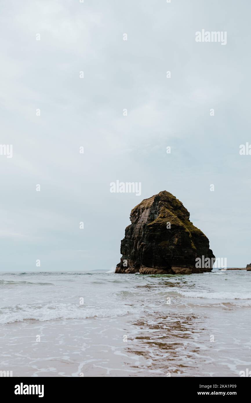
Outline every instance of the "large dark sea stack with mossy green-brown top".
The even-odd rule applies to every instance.
[[[209,241],[189,216],[183,204],[167,191],[144,199],[131,211],[131,224],[125,229],[121,241],[122,258],[115,273],[191,274],[211,271],[215,257],[209,249]],[[210,258],[211,264],[205,265],[206,268],[196,268],[195,259],[203,261],[203,256],[205,260]]]

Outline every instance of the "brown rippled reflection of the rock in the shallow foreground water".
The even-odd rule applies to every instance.
[[[161,372],[163,376],[168,376],[168,373],[169,376],[191,376],[195,373],[194,356],[200,349],[196,341],[203,332],[199,330],[203,327],[201,319],[195,315],[178,314],[163,318],[156,313],[147,322],[139,320],[134,325],[140,334],[135,336],[128,352],[143,356],[151,371]]]

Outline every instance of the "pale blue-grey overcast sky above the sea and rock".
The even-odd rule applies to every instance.
[[[250,263],[250,1],[0,7],[0,143],[13,146],[0,155],[0,270],[115,268],[131,209],[162,190],[228,267]],[[226,45],[195,42],[202,29]],[[141,196],[110,193],[116,180]]]

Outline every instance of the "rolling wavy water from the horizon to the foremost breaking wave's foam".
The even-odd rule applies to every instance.
[[[177,306],[184,303],[193,304],[195,310],[203,306],[205,311],[212,304],[217,309],[229,306],[239,312],[240,307],[251,306],[251,276],[247,272],[221,272],[217,280],[212,273],[167,280],[113,272],[114,267],[91,273],[1,273],[0,324],[57,319],[80,319],[84,324],[85,318],[127,314],[138,320],[146,311],[150,315],[163,312],[165,317],[170,309],[179,312]],[[172,297],[171,305],[166,304],[168,296]],[[84,305],[79,305],[81,297]]]

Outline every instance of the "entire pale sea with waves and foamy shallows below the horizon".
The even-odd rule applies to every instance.
[[[0,370],[12,376],[240,376],[251,272],[0,272]]]

